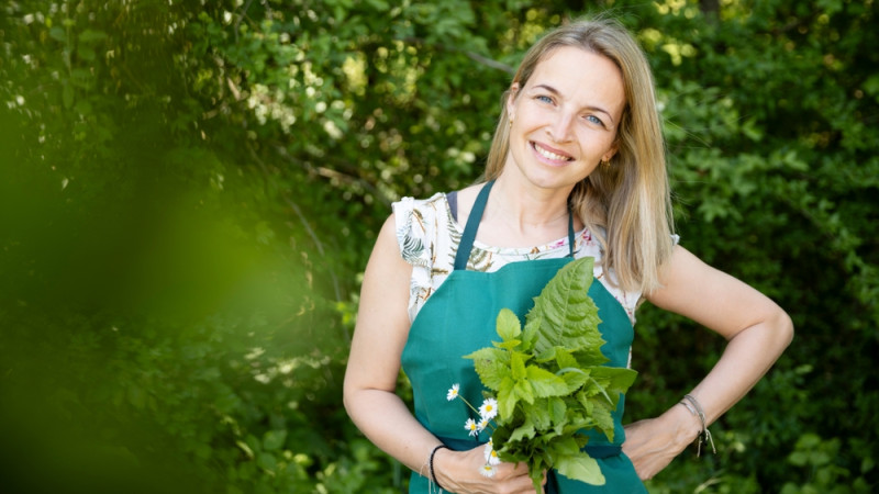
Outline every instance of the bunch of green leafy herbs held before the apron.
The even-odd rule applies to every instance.
[[[512,311],[502,310],[497,321],[501,341],[465,356],[493,392],[491,406],[497,404],[487,459],[525,462],[538,491],[548,469],[604,483],[598,462],[581,451],[588,441],[581,431],[598,429],[613,440],[611,412],[636,375],[602,366],[608,358],[601,353],[601,319],[587,293],[593,262],[581,258],[560,269],[534,299],[524,328]]]

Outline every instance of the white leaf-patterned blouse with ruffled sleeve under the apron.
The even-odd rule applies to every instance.
[[[455,221],[446,194],[442,192],[426,200],[403,198],[393,203],[393,212],[400,251],[403,259],[412,265],[409,319],[414,321],[424,302],[452,272],[464,228]],[[565,257],[568,250],[567,237],[533,248],[498,248],[477,240],[467,269],[493,272],[510,262]],[[576,233],[574,257],[596,259],[596,279],[620,302],[632,324],[635,324],[635,308],[641,301],[641,292],[623,292],[608,282],[600,262],[599,243],[592,239],[589,231]]]

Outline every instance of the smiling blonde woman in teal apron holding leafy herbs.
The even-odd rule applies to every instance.
[[[790,343],[788,315],[745,283],[677,245],[649,67],[610,21],[547,34],[525,55],[505,93],[486,182],[394,204],[364,278],[345,406],[382,450],[412,469],[410,492],[534,492],[527,468],[480,475],[483,448],[467,440],[445,391],[479,402],[460,356],[490,346],[494,317],[523,317],[532,297],[571,258],[596,259],[590,296],[609,366],[628,362],[642,300],[682,314],[728,340],[687,400],[661,416],[621,425],[614,442],[590,437],[604,486],[548,472],[561,493],[646,492],[665,468],[735,404]],[[503,269],[501,269],[503,268]],[[394,394],[402,368],[415,414]],[[602,442],[603,440],[603,442]]]

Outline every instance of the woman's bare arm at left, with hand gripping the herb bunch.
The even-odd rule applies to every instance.
[[[400,256],[391,216],[366,267],[357,326],[345,372],[344,402],[352,420],[376,446],[429,476],[427,458],[442,442],[394,393],[400,357],[409,337],[412,267]],[[493,479],[479,474],[482,448],[437,451],[434,471],[447,492],[534,492],[525,465],[504,463]]]

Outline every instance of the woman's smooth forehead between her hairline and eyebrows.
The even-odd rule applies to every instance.
[[[537,63],[525,89],[536,86],[549,86],[564,99],[583,104],[602,103],[619,112],[625,105],[623,75],[616,64],[574,46],[555,48]]]

